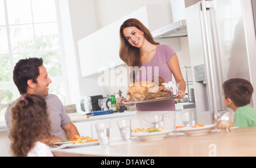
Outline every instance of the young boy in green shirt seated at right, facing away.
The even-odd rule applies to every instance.
[[[222,85],[222,102],[235,111],[234,127],[256,127],[256,111],[250,106],[253,86],[240,78],[229,79]]]

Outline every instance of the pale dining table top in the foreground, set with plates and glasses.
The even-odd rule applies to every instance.
[[[109,145],[52,148],[55,157],[238,157],[256,156],[256,127],[213,128],[204,135],[170,132],[156,140],[110,138]]]

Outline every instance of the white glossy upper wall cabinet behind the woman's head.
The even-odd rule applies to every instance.
[[[119,58],[119,28],[125,20],[136,18],[150,31],[172,23],[171,4],[147,5],[101,28],[77,42],[82,77],[89,77],[125,63]]]

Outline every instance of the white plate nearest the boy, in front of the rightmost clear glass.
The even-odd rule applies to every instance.
[[[205,135],[212,131],[212,129],[215,127],[215,124],[209,124],[209,125],[204,125],[204,127],[184,127],[184,128],[177,128],[177,131],[181,131],[185,133],[186,135],[189,136],[196,136],[196,135]]]

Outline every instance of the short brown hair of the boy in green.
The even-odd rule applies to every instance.
[[[222,85],[225,99],[231,99],[237,107],[250,103],[253,94],[253,86],[246,79],[233,78],[225,81]]]

